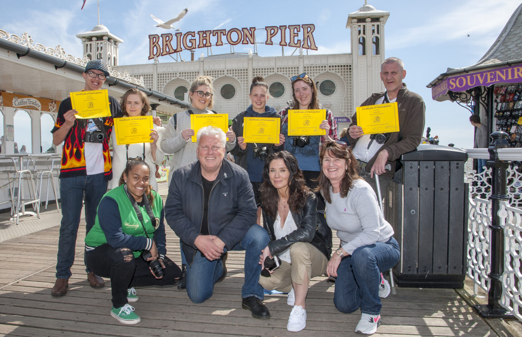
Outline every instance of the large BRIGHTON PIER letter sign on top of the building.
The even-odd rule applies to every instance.
[[[288,27],[288,35],[287,35]],[[301,35],[302,29],[302,35]],[[317,50],[315,45],[313,32],[315,25],[289,25],[289,26],[267,26],[265,44],[273,45],[276,35],[279,34],[280,46],[303,47],[304,49]],[[211,46],[221,46],[224,43],[231,45],[238,44],[255,44],[255,27],[250,28],[232,28],[200,30],[197,33],[177,32],[174,35],[168,34],[150,34],[149,35],[149,59],[169,54],[179,53],[182,50],[194,50],[197,48],[205,48]],[[287,42],[288,36],[288,42]],[[300,36],[302,39],[300,39]],[[196,40],[197,38],[197,40]],[[212,43],[213,40],[214,42]],[[226,42],[225,42],[226,41]],[[173,44],[176,46],[174,48]]]

